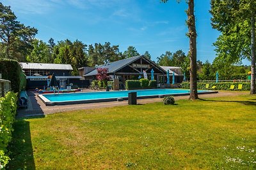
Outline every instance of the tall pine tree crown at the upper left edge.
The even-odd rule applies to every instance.
[[[25,26],[17,21],[10,6],[0,3],[0,39],[4,57],[24,60],[23,56],[31,48],[31,41],[36,33],[37,29],[34,27]]]

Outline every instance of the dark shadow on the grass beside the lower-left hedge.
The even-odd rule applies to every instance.
[[[29,122],[16,120],[12,141],[8,146],[10,161],[7,169],[35,169]]]

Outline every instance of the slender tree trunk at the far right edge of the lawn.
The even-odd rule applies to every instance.
[[[253,3],[253,2],[251,2]],[[253,5],[253,4],[252,4]],[[252,39],[251,39],[251,55],[252,55],[252,63],[251,63],[251,90],[250,94],[255,94],[255,10],[252,8],[252,17],[251,17],[251,24],[252,24]]]

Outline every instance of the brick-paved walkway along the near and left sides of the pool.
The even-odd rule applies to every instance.
[[[20,108],[17,112],[17,118],[20,117],[33,117],[40,115],[48,115],[52,113],[60,113],[65,111],[73,110],[88,110],[95,108],[109,108],[113,106],[125,106],[128,105],[128,101],[112,101],[104,103],[87,103],[87,104],[70,104],[61,106],[45,106],[45,104],[39,99],[39,97],[34,94],[34,92],[28,91],[28,108]],[[200,94],[200,98],[210,98],[210,97],[224,97],[224,96],[239,96],[243,94],[249,94],[249,92],[229,92],[229,91],[219,91],[216,94]],[[175,96],[175,100],[188,99],[189,96]],[[162,102],[163,98],[151,98],[151,99],[138,99],[138,104],[155,103]]]

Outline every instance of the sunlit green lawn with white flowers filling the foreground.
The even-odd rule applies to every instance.
[[[256,96],[17,120],[9,168],[256,169],[255,120]]]

